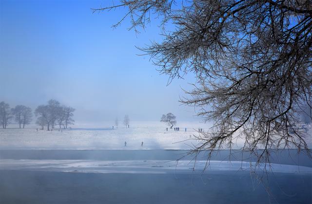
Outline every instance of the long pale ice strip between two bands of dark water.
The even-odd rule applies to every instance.
[[[254,162],[240,161],[170,161],[170,160],[0,160],[0,170],[44,170],[63,172],[84,172],[84,173],[190,173],[194,170],[200,172],[206,165],[206,171],[211,170],[248,170],[262,171],[265,168],[274,173],[310,173],[311,167],[268,164],[255,168]]]

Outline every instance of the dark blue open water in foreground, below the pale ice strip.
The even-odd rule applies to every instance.
[[[246,171],[192,174],[0,171],[4,204],[311,204],[311,174],[270,174],[265,188]]]

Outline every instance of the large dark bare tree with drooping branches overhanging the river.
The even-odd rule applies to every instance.
[[[162,41],[141,50],[169,83],[195,73],[194,89],[181,102],[214,125],[199,134],[193,153],[231,150],[243,138],[242,150],[256,154],[257,164],[280,148],[311,157],[298,127],[298,107],[312,107],[311,0],[119,2],[94,11],[124,6],[128,12],[114,26],[130,17],[136,32],[153,14],[162,17]]]

